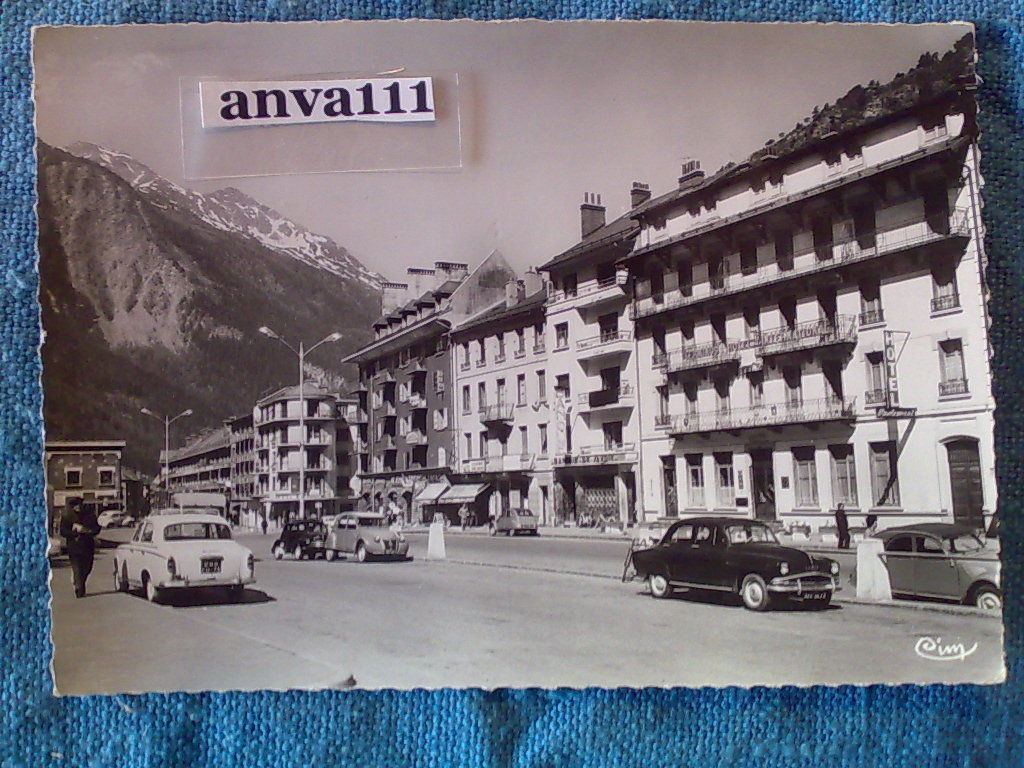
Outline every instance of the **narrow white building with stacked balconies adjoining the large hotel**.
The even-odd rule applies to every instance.
[[[650,197],[635,183],[635,210]],[[557,522],[637,519],[639,369],[629,314],[628,274],[618,262],[638,231],[632,210],[606,222],[598,195],[580,207],[581,240],[540,268],[550,275],[550,387]]]

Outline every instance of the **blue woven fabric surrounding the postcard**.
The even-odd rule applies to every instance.
[[[0,768],[1020,766],[1024,2],[0,0]],[[699,18],[978,25],[1009,682],[958,688],[51,695],[32,25],[309,18]],[[723,55],[726,53],[724,52]],[[879,655],[886,648],[874,650]],[[797,663],[795,660],[795,663]]]

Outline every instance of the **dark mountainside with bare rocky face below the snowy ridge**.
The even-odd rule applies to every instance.
[[[293,343],[341,332],[310,355],[307,375],[332,389],[352,379],[340,359],[371,338],[380,313],[373,272],[333,243],[303,257],[295,252],[304,236],[271,247],[270,230],[258,237],[243,223],[272,218],[282,232],[285,220],[269,209],[248,198],[236,205],[229,194],[193,197],[119,158],[123,172],[139,171],[131,182],[106,163],[38,146],[47,438],[125,439],[127,461],[154,471],[164,429],[139,409],[193,409],[172,427],[180,444],[295,381],[295,355],[260,326]]]

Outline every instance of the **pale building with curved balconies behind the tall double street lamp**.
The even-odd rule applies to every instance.
[[[272,519],[321,517],[339,511],[338,397],[313,383],[284,387],[253,410],[255,498]],[[342,493],[347,498],[347,489]]]

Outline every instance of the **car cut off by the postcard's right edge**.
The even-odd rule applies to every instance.
[[[1002,609],[998,551],[966,525],[899,525],[878,534],[893,595]]]

